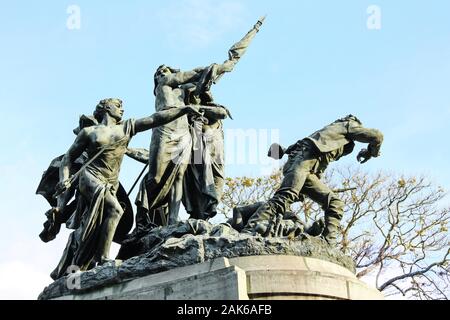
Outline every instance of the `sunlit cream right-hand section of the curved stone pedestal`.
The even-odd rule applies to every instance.
[[[230,259],[245,270],[247,295],[253,300],[381,300],[344,267],[296,256],[257,256]]]

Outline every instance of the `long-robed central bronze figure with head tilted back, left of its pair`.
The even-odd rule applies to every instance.
[[[196,68],[182,72],[166,65],[160,66],[154,76],[156,111],[185,107],[186,90],[182,86],[197,82],[204,70],[205,68]],[[218,67],[219,74],[226,70],[228,66],[225,64]],[[136,205],[140,208],[139,221],[154,222],[157,225],[177,222],[183,197],[183,177],[191,154],[192,137],[187,116],[153,130],[149,150],[149,173],[144,178],[136,199]],[[167,206],[166,216],[160,208]],[[150,217],[157,212],[160,216]],[[145,226],[138,225],[138,229],[143,227]]]

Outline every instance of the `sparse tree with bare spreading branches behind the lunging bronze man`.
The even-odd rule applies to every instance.
[[[371,175],[355,167],[330,169],[323,180],[345,202],[338,242],[355,261],[358,278],[386,297],[450,297],[450,206],[441,187],[425,177]],[[267,201],[281,181],[281,171],[227,179],[220,212],[229,218],[236,206]],[[305,224],[323,217],[309,199],[292,211]]]

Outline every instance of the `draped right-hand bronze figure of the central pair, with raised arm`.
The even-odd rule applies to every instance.
[[[224,132],[222,121],[233,119],[229,110],[214,102],[211,86],[216,84],[225,72],[231,72],[246,53],[250,43],[259,32],[265,17],[260,18],[249,32],[230,50],[228,60],[222,65],[213,64],[206,68],[195,84],[187,91],[189,104],[199,104],[201,118],[193,117],[192,136],[194,148],[192,163],[184,178],[183,204],[191,218],[208,220],[217,214],[225,183]]]

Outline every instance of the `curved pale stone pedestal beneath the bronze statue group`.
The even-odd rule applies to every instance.
[[[216,258],[57,300],[379,300],[337,264],[298,256]]]

